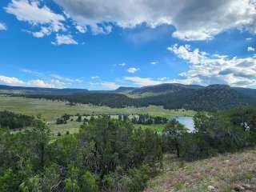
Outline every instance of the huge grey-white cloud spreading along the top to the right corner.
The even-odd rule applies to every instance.
[[[81,26],[90,26],[95,34],[110,32],[110,23],[122,28],[142,23],[152,28],[172,25],[176,29],[173,36],[186,41],[211,39],[230,29],[256,33],[255,3],[251,0],[54,1],[70,18]]]

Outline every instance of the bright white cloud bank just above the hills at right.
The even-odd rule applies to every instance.
[[[192,83],[256,85],[255,57],[229,58],[226,55],[211,55],[198,49],[192,50],[189,45],[178,46],[177,44],[170,46],[168,50],[190,64],[190,69],[180,75]]]

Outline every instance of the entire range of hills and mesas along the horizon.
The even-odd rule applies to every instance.
[[[22,95],[27,98],[58,99],[110,107],[157,105],[164,106],[166,109],[215,111],[230,109],[234,106],[256,106],[256,90],[218,84],[188,86],[173,83],[157,86],[119,87],[117,90],[110,91],[12,86],[0,86],[1,89],[26,90]]]

